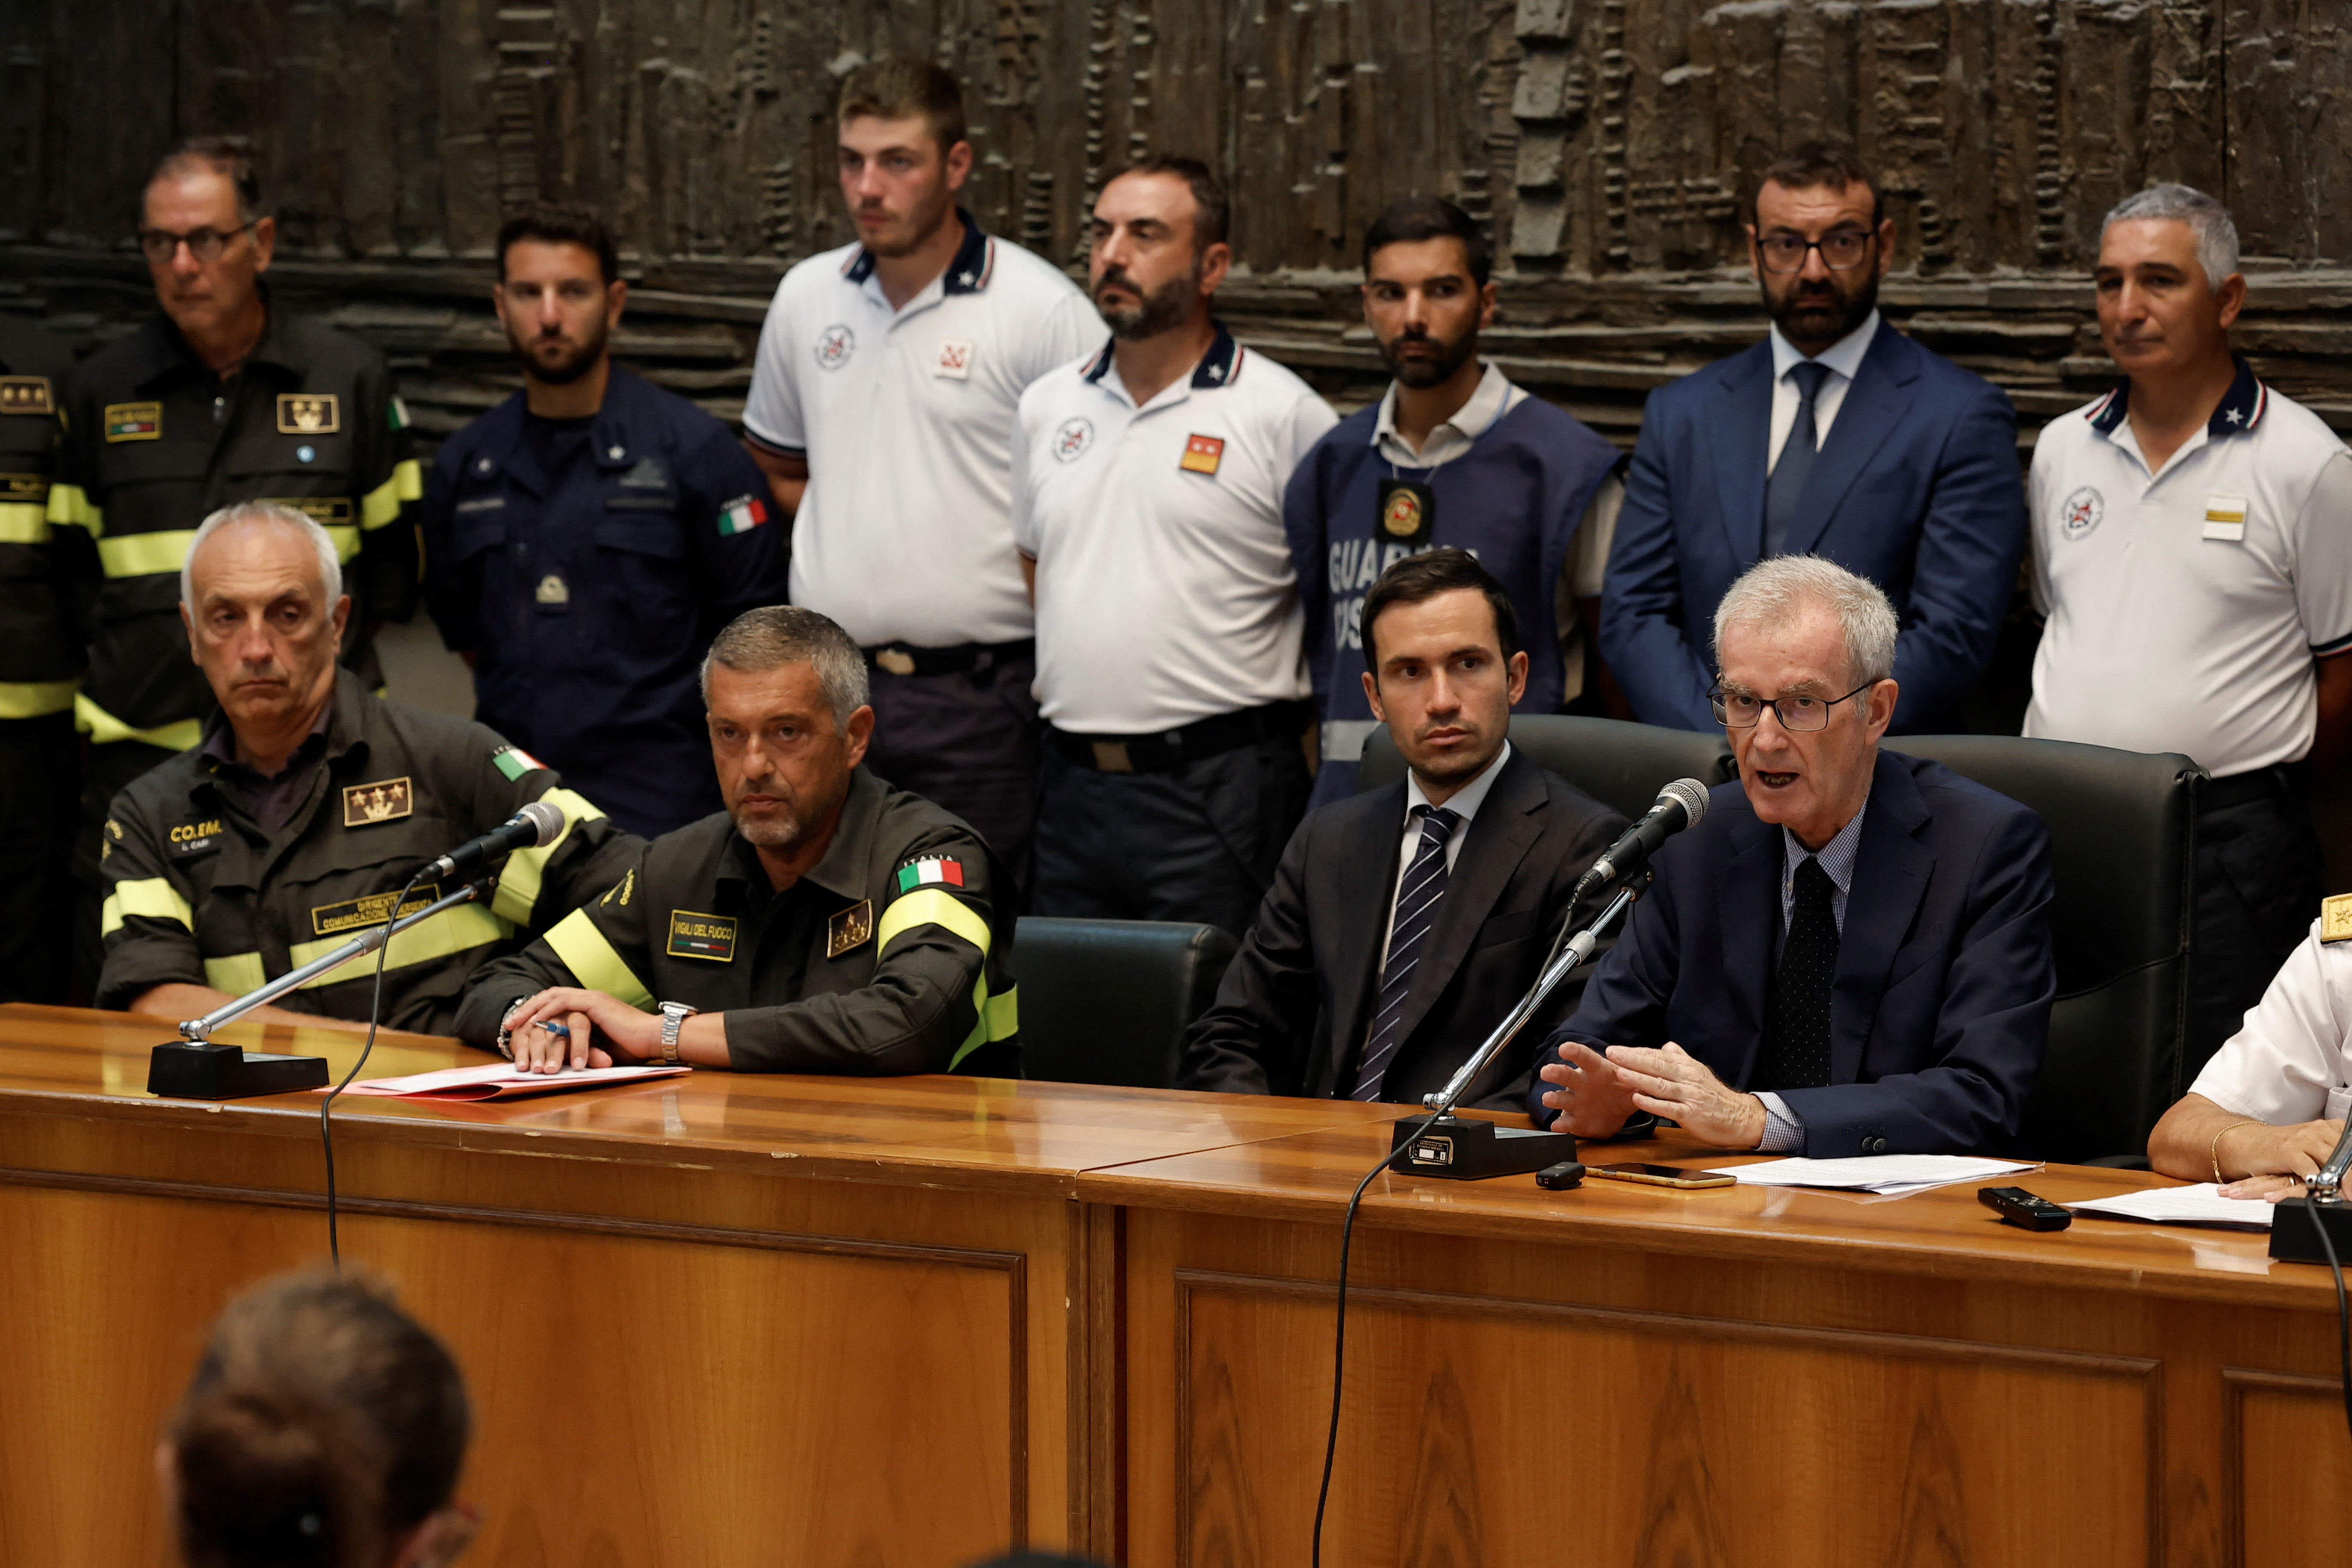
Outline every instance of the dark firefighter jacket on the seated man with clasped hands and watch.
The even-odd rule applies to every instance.
[[[489,1046],[515,1001],[574,985],[727,1013],[739,1072],[1018,1077],[1002,886],[971,827],[856,769],[800,882],[774,891],[724,811],[642,844],[600,898],[475,978],[459,1037]]]

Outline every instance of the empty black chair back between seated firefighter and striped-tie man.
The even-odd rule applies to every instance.
[[[1021,1077],[1169,1088],[1176,1046],[1216,999],[1235,950],[1216,926],[1023,917],[1011,957]]]

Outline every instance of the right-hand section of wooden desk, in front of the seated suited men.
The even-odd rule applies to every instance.
[[[1329,1133],[1084,1182],[1124,1208],[1105,1443],[1134,1568],[1308,1561],[1338,1218],[1376,1157]],[[2145,1180],[2032,1175],[2056,1199]],[[2336,1302],[2263,1248],[2030,1237],[1973,1187],[1383,1178],[1324,1563],[2347,1561]]]

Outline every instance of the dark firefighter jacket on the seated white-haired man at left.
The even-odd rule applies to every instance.
[[[546,799],[564,813],[555,844],[513,853],[487,905],[456,905],[390,943],[383,1025],[449,1034],[473,971],[612,886],[637,844],[489,729],[388,703],[348,675],[308,795],[275,835],[221,788],[219,769],[186,750],[115,797],[99,1006],[125,1009],[169,983],[245,994],[381,926],[412,875]],[[419,884],[402,914],[456,886]],[[374,959],[353,961],[278,1006],[367,1018],[372,990]]]

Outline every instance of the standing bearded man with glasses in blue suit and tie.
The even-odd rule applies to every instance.
[[[1658,388],[1602,588],[1602,656],[1644,724],[1710,729],[1705,637],[1773,555],[1858,571],[1900,616],[1891,729],[1959,729],[2025,548],[2018,421],[1879,320],[1896,226],[1839,143],[1764,172],[1748,259],[1771,339]]]

